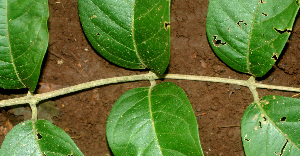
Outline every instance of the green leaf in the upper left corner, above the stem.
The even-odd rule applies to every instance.
[[[48,46],[47,0],[0,0],[0,87],[34,91]]]

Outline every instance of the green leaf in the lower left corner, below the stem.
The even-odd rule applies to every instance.
[[[5,137],[0,155],[83,155],[70,136],[46,120],[15,126]]]

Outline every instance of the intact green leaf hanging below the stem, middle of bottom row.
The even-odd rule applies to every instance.
[[[203,155],[191,104],[173,83],[123,94],[110,112],[106,134],[115,155]]]

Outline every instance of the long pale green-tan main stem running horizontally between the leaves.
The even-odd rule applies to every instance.
[[[247,80],[220,78],[220,77],[181,75],[181,74],[165,74],[165,75],[158,77],[154,73],[149,72],[147,74],[101,79],[101,80],[78,84],[78,85],[71,86],[71,87],[58,89],[58,90],[47,92],[47,93],[36,94],[36,95],[27,95],[27,96],[21,97],[21,98],[2,100],[2,101],[0,101],[0,107],[25,104],[25,103],[29,103],[31,105],[33,103],[37,104],[39,101],[42,101],[42,100],[78,92],[81,90],[91,89],[91,88],[95,88],[95,87],[99,87],[99,86],[103,86],[103,85],[108,85],[108,84],[133,82],[133,81],[144,81],[144,80],[154,83],[153,81],[157,80],[157,79],[178,79],[178,80],[194,80],[194,81],[229,83],[229,84],[236,84],[236,85],[240,85],[240,86],[246,86],[246,87],[249,87],[250,90],[251,90],[251,86],[252,86],[251,92],[252,92],[252,94],[254,94],[253,96],[254,96],[255,100],[257,100],[257,98],[258,98],[258,93],[256,92],[256,88],[267,88],[267,89],[275,89],[275,90],[283,90],[283,91],[300,92],[300,88],[260,84],[260,83],[255,83],[254,79],[251,80],[251,82],[250,82],[250,80],[247,81]],[[253,89],[257,93],[257,96],[255,95],[256,93],[253,92],[254,91]]]

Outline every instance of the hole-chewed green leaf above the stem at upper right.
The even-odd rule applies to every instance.
[[[278,59],[298,10],[296,0],[210,0],[209,43],[231,68],[261,77]]]

